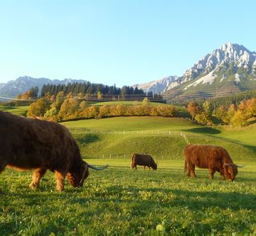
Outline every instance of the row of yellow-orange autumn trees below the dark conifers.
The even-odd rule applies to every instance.
[[[28,108],[28,117],[38,117],[46,120],[64,121],[86,118],[107,118],[114,116],[176,116],[174,106],[151,106],[148,98],[144,98],[138,106],[89,106],[85,100],[73,97],[70,92],[63,99],[64,92],[60,91],[52,102],[47,96],[31,103]]]

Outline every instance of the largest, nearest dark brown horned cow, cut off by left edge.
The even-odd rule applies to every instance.
[[[55,173],[58,191],[63,191],[65,176],[73,187],[80,187],[89,174],[88,167],[107,167],[84,162],[77,143],[63,125],[0,111],[0,173],[6,166],[33,169],[31,189],[38,187],[50,169]]]

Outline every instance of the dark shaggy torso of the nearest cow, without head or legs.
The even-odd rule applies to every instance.
[[[0,113],[0,155],[9,167],[55,169],[67,164],[79,148],[68,129],[46,120]]]

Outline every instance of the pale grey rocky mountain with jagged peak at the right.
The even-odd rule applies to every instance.
[[[162,86],[161,79],[147,84],[164,94],[172,91],[178,94],[189,91],[204,93],[209,89],[225,89],[227,86],[232,86],[233,90],[238,91],[241,88],[250,90],[251,86],[256,86],[256,52],[247,50],[243,45],[228,42],[201,57],[192,67],[186,69],[181,77],[175,78],[168,86]],[[150,86],[137,86],[151,91]]]

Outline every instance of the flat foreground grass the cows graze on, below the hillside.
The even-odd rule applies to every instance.
[[[129,169],[128,159],[89,159],[109,163],[90,171],[82,189],[65,182],[55,192],[47,172],[41,188],[28,189],[29,172],[1,174],[1,235],[250,235],[256,230],[255,163],[244,167],[235,182],[197,179],[183,174],[183,162],[159,161],[157,171]],[[163,231],[156,231],[156,226]]]

